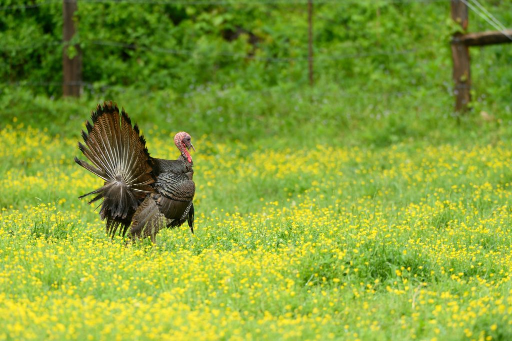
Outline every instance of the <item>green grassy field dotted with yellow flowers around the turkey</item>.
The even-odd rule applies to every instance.
[[[152,155],[177,157],[177,129],[197,148],[196,235],[127,246],[77,199],[101,184],[73,163],[95,100],[12,100],[0,339],[512,338],[509,108],[457,120],[446,94],[326,94],[199,94],[168,126],[163,104],[120,96]]]

